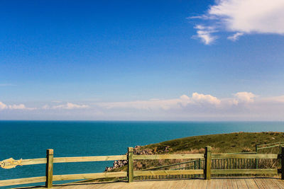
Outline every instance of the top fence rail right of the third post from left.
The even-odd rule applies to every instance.
[[[212,154],[212,159],[278,159],[278,154]]]

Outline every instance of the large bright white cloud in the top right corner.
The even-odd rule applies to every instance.
[[[202,16],[208,26],[220,31],[234,32],[228,37],[236,41],[241,35],[250,33],[273,33],[284,35],[283,0],[218,0]],[[198,31],[199,28],[195,27]],[[210,34],[210,33],[209,33]],[[206,35],[204,35],[206,36]],[[206,44],[206,43],[205,43]]]

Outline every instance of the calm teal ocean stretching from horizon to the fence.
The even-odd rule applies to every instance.
[[[284,122],[0,121],[0,160],[125,154],[127,147],[227,132],[284,132]],[[96,173],[111,161],[55,164],[55,175]],[[45,176],[45,165],[0,168],[0,180]],[[56,183],[56,182],[55,182]]]

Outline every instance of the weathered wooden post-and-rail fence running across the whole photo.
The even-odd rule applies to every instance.
[[[134,171],[133,161],[139,160],[160,160],[160,159],[194,159],[203,161],[203,168],[195,166],[195,169],[175,170],[153,170],[148,168],[146,170]],[[216,168],[214,165],[215,159],[226,159],[226,166]],[[248,159],[251,164],[256,159],[280,159],[281,168],[229,168],[229,159]],[[8,161],[9,160],[9,161]],[[81,173],[81,174],[67,174],[67,175],[53,175],[53,164],[67,163],[67,162],[86,162],[86,161],[114,161],[114,160],[128,160],[128,171],[119,172],[104,172],[104,173]],[[189,162],[189,161],[187,161]],[[187,163],[185,162],[185,163]],[[212,166],[213,163],[213,166]],[[233,161],[234,163],[234,161]],[[204,179],[209,180],[212,175],[253,175],[253,174],[278,174],[281,173],[281,178],[284,179],[284,147],[282,147],[281,154],[212,154],[211,147],[205,148],[204,154],[155,154],[155,155],[135,155],[133,148],[129,147],[127,155],[119,156],[77,156],[77,157],[54,157],[53,149],[48,149],[46,158],[42,159],[23,159],[11,160],[7,159],[0,161],[2,168],[13,168],[17,165],[34,165],[46,164],[45,176],[32,178],[18,178],[0,181],[0,186],[6,185],[21,185],[28,183],[45,182],[45,187],[53,186],[53,181],[68,181],[68,180],[84,180],[96,178],[126,178],[128,182],[132,182],[133,178],[139,176],[180,176],[180,175],[204,175]],[[231,166],[231,164],[230,164]],[[163,167],[163,166],[160,166]],[[253,166],[250,166],[253,167]]]

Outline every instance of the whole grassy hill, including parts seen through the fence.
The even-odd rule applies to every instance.
[[[211,146],[212,153],[234,153],[255,151],[256,144],[284,142],[284,132],[234,132],[229,134],[210,134],[195,137],[173,139],[156,144],[148,144],[134,148],[134,154],[203,154],[204,147]],[[261,149],[258,153],[279,153],[279,147]],[[141,170],[188,160],[140,160],[134,161],[134,169]],[[276,161],[259,161],[262,168],[277,168]],[[113,171],[127,171],[127,166],[111,168]],[[112,178],[96,179],[94,181],[112,181]]]

